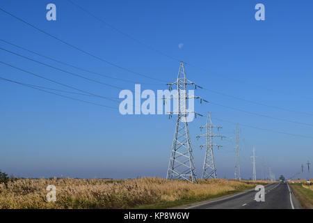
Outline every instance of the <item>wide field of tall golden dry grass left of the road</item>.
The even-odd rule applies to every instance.
[[[47,202],[47,185],[56,186],[56,202]],[[168,207],[252,187],[255,183],[224,179],[199,184],[163,178],[18,179],[0,184],[0,208],[136,208],[157,203]]]

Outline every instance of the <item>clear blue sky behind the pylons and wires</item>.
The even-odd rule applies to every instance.
[[[188,79],[211,91],[266,105],[313,114],[312,1],[81,1],[73,0],[123,33],[186,62]],[[47,3],[55,3],[57,20],[47,21]],[[255,5],[264,3],[265,21],[255,20]],[[179,61],[137,43],[83,13],[68,1],[1,1],[0,7],[40,29],[107,61],[141,74],[172,82]],[[166,89],[161,82],[110,66],[72,49],[0,11],[1,39],[45,56],[104,75],[144,83],[142,89]],[[179,44],[183,47],[179,48]],[[0,41],[0,47],[134,91],[134,84],[107,79],[60,65]],[[120,90],[72,77],[0,50],[2,62],[85,91],[118,98]],[[0,77],[70,91],[0,64]],[[175,117],[128,115],[61,98],[0,80],[0,169],[24,177],[166,176]],[[255,116],[213,104],[195,103],[200,114],[211,112],[227,139],[216,143],[219,177],[234,176],[234,123],[313,137],[312,115],[287,112],[236,100],[211,91],[196,95],[220,105],[307,123],[300,125]],[[118,104],[84,95],[70,95],[102,105]],[[216,119],[214,119],[216,118]],[[218,118],[218,119],[217,119]],[[225,120],[225,121],[221,121]],[[233,123],[229,123],[231,121]],[[204,151],[195,136],[205,118],[190,123],[198,176]],[[312,157],[312,138],[241,128],[241,172],[252,176],[252,146],[278,176],[292,176]]]

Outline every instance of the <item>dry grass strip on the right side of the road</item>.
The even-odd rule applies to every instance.
[[[303,208],[313,209],[313,185],[307,183],[291,183],[294,194],[299,199]]]

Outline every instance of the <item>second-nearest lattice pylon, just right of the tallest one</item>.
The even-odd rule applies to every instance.
[[[197,139],[200,137],[205,137],[205,144],[200,145],[200,148],[205,148],[202,178],[217,178],[213,149],[214,147],[220,148],[221,146],[213,144],[213,137],[220,137],[220,139],[223,139],[223,136],[214,134],[213,128],[217,128],[219,130],[222,127],[212,124],[211,112],[208,112],[207,123],[205,123],[203,126],[200,126],[200,130],[202,131],[203,128],[205,129],[205,133],[197,136]]]

